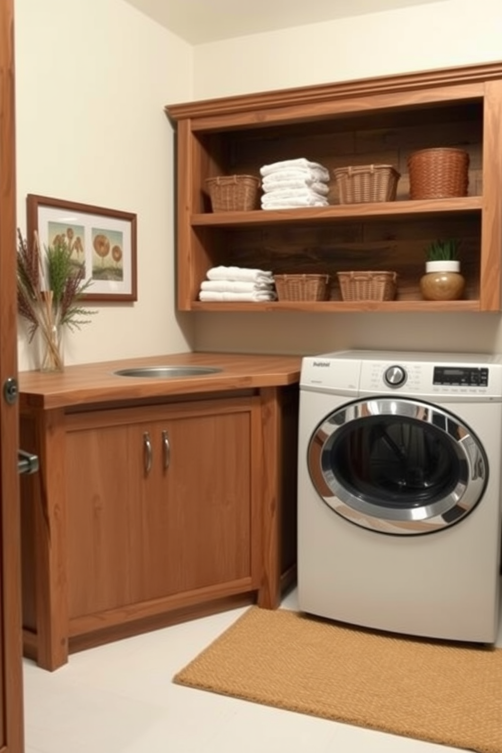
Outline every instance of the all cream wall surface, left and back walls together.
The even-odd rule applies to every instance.
[[[349,0],[348,0],[349,2]],[[16,0],[17,209],[26,194],[138,215],[138,301],[96,304],[68,364],[184,349],[502,350],[500,316],[178,314],[173,133],[163,106],[502,57],[500,0],[434,5],[190,47],[123,0]],[[36,367],[19,338],[20,369]]]

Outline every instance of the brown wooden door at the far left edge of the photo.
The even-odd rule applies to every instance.
[[[14,0],[0,0],[0,751],[23,751],[19,409],[4,397],[17,379]]]

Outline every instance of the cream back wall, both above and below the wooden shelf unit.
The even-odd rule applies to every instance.
[[[502,59],[500,0],[443,0],[195,47],[196,99]],[[295,155],[300,156],[300,155]],[[301,155],[306,156],[308,155]],[[494,314],[197,314],[198,350],[502,351]]]

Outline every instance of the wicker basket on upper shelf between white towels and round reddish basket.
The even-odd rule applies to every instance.
[[[391,165],[337,167],[333,170],[340,204],[394,201],[400,173]]]

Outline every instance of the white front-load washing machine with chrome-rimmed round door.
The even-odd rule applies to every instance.
[[[494,642],[502,356],[303,358],[299,428],[300,610]]]

